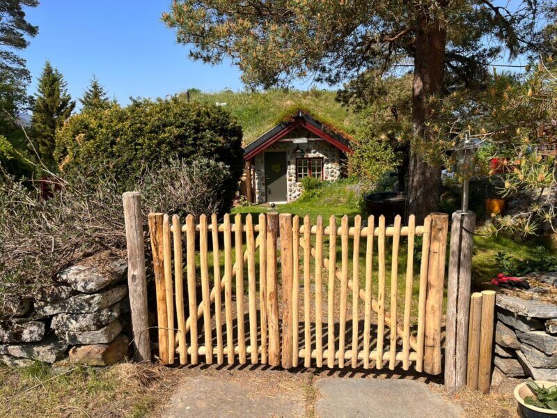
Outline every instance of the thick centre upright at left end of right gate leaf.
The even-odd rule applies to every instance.
[[[281,213],[281,275],[283,285],[282,365],[292,367],[292,215]]]

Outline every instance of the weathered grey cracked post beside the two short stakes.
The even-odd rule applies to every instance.
[[[448,392],[466,385],[466,357],[470,313],[474,212],[453,213],[447,284],[445,387]]]

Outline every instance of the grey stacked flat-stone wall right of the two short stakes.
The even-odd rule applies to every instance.
[[[557,380],[557,301],[498,294],[494,363],[511,378]]]

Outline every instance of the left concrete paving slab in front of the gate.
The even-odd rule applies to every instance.
[[[162,417],[304,417],[303,391],[266,395],[258,382],[198,376],[173,394]]]

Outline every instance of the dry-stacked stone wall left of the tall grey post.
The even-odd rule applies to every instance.
[[[10,304],[10,319],[0,323],[0,362],[25,366],[54,363],[66,356],[91,366],[113,364],[127,353],[123,332],[127,313],[127,263],[95,254],[39,288],[31,300]]]

